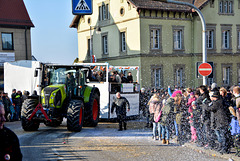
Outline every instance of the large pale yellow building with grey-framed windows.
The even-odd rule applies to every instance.
[[[207,26],[207,61],[213,64],[208,84],[240,84],[240,1],[195,0],[194,5]],[[202,84],[197,74],[202,24],[188,6],[152,0],[93,0],[93,14],[75,16],[70,27],[77,29],[81,62],[90,62],[92,37],[97,61],[139,66],[142,87]]]

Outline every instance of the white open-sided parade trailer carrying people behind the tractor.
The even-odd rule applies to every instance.
[[[89,86],[95,86],[100,90],[100,118],[112,119],[116,118],[115,112],[111,114],[111,104],[116,97],[114,87],[119,87],[121,96],[126,97],[130,103],[130,111],[127,116],[139,116],[139,99],[140,99],[140,86],[139,82],[139,67],[137,66],[111,66],[108,63],[75,63],[76,65],[88,66],[93,72],[101,71],[104,73],[104,80],[101,81],[88,81]],[[134,83],[112,83],[109,81],[110,72],[117,71],[131,71],[133,73]]]

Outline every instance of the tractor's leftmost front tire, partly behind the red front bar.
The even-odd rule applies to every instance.
[[[39,124],[40,124],[39,122],[27,120],[33,113],[37,104],[38,104],[38,100],[36,99],[26,99],[23,102],[22,111],[21,111],[21,122],[22,122],[22,128],[25,131],[36,131],[39,128]]]

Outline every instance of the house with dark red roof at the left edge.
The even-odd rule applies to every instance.
[[[23,0],[0,0],[0,86],[4,62],[32,59],[32,27]]]

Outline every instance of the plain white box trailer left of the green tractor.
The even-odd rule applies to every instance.
[[[14,62],[4,63],[4,92],[9,96],[12,93],[12,89],[17,91],[29,91],[30,94],[34,90],[37,94],[40,94],[42,82],[42,72],[38,72],[38,77],[34,77],[35,70],[40,69],[42,66],[39,61],[32,60],[20,60]]]

